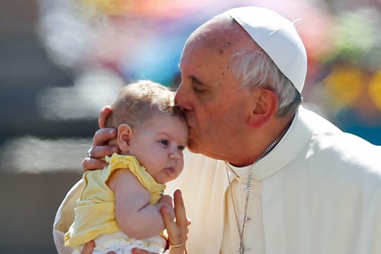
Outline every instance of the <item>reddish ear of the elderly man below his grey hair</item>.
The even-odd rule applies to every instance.
[[[249,126],[259,128],[277,112],[279,99],[275,92],[268,89],[258,89],[253,98]]]

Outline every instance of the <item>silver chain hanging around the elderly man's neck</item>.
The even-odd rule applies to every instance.
[[[286,134],[286,131],[288,129],[289,129],[289,126],[287,126],[282,131],[282,133],[280,133],[279,136],[274,141],[272,141],[272,143],[265,149],[265,151],[262,152],[260,157],[258,157],[258,159],[255,159],[255,161],[253,162],[253,166],[255,163],[259,162],[260,159],[265,157],[267,155],[267,153],[269,153],[272,150],[272,148],[274,148],[274,146],[277,145],[277,143],[279,143],[279,141],[283,138],[284,134]],[[246,221],[248,220],[248,202],[249,202],[249,198],[250,198],[251,175],[253,174],[253,166],[250,167],[250,169],[248,171],[248,181],[246,182],[245,204],[243,206],[243,222],[242,222],[242,229],[241,229],[241,226],[240,226],[239,221],[238,221],[238,212],[237,212],[236,202],[234,201],[233,191],[231,189],[231,181],[230,181],[230,176],[229,176],[229,165],[227,164],[227,162],[225,162],[226,176],[227,176],[227,179],[229,182],[228,188],[229,188],[231,203],[232,203],[233,208],[234,208],[234,217],[236,217],[238,236],[239,236],[238,254],[245,253],[245,249],[243,248],[243,233],[245,231]]]

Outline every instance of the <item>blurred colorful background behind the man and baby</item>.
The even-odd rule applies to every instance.
[[[0,2],[0,253],[56,253],[52,223],[124,83],[179,84],[188,35],[236,6],[297,23],[306,107],[381,145],[380,0],[5,0]]]

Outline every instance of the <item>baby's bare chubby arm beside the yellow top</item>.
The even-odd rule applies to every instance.
[[[131,171],[114,171],[107,185],[114,191],[116,222],[121,231],[133,238],[148,238],[164,230],[159,207],[150,205],[150,192]]]

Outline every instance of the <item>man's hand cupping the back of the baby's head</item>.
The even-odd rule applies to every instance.
[[[109,145],[109,140],[116,138],[117,131],[114,128],[105,128],[107,117],[111,114],[111,107],[107,106],[102,109],[99,114],[98,124],[99,130],[92,139],[92,147],[89,156],[82,162],[83,171],[92,169],[103,169],[107,163],[101,159],[106,155],[111,156],[114,152],[120,152],[117,145]]]

